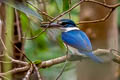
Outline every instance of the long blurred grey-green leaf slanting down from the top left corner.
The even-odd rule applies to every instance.
[[[35,12],[28,6],[24,5],[24,3],[22,3],[22,2],[18,2],[16,0],[14,0],[14,2],[12,0],[2,0],[2,2],[25,13],[26,15],[34,16],[34,17],[38,18],[40,21],[43,20],[42,17],[39,15],[39,13]]]

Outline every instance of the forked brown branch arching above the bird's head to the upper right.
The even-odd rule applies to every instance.
[[[83,2],[90,2],[90,3],[95,3],[98,5],[101,5],[103,7],[106,7],[108,9],[110,9],[110,11],[107,13],[107,15],[102,18],[102,19],[98,19],[98,20],[91,20],[91,21],[80,21],[77,24],[88,24],[88,23],[97,23],[97,22],[103,22],[105,20],[107,20],[110,15],[112,14],[112,12],[120,6],[120,3],[117,4],[113,4],[113,5],[108,5],[106,3],[102,3],[99,1],[95,1],[95,0],[81,0],[78,3],[76,3],[75,5],[73,5],[71,8],[69,8],[67,11],[64,11],[63,13],[59,14],[58,16],[56,16],[55,18],[53,18],[50,22],[43,22],[43,24],[50,24],[51,22],[54,22],[55,20],[57,20],[58,18],[64,16],[65,14],[69,13],[71,10],[73,10],[74,8],[76,8],[77,6],[79,6],[81,3]]]

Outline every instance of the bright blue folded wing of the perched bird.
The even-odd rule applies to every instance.
[[[91,51],[92,46],[91,42],[88,39],[87,35],[81,30],[72,30],[68,32],[62,32],[62,40],[81,51]]]

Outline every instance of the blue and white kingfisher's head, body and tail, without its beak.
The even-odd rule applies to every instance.
[[[62,41],[72,50],[74,55],[88,56],[97,63],[103,63],[103,60],[92,52],[91,42],[85,32],[80,30],[71,19],[60,19],[57,24],[61,25]]]

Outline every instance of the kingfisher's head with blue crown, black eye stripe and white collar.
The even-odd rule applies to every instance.
[[[79,28],[77,28],[74,21],[72,21],[70,19],[61,19],[57,22],[57,24],[61,25],[60,29],[62,31],[70,31],[70,30],[79,29]]]

